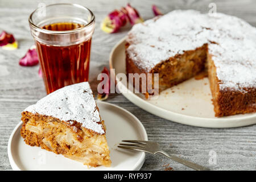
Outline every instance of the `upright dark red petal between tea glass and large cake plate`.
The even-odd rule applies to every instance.
[[[103,77],[101,75],[101,82],[104,81],[104,79],[107,79],[107,80],[104,81],[106,84],[102,85],[103,93],[99,93],[99,90],[98,90],[97,99],[100,101],[104,101],[109,97],[109,93],[110,93],[109,92],[110,91],[110,74],[109,74],[108,68],[106,67],[104,67],[101,73],[105,73],[107,75],[107,77]]]

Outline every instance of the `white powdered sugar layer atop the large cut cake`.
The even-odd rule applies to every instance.
[[[256,28],[235,16],[176,10],[136,24],[127,42],[128,55],[146,72],[169,57],[207,43],[220,89],[243,92],[243,88],[256,87]]]

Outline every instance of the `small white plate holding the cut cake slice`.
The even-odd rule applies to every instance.
[[[88,168],[80,162],[65,158],[40,147],[28,146],[20,137],[20,122],[11,133],[8,156],[14,170],[139,170],[144,163],[144,152],[117,148],[121,140],[147,140],[142,123],[129,111],[107,102],[97,101],[101,118],[106,125],[106,139],[110,149],[111,167]]]

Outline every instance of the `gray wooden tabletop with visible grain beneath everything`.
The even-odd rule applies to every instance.
[[[39,67],[20,67],[18,61],[34,44],[28,27],[28,16],[44,2],[46,5],[59,1],[0,1],[0,31],[14,34],[19,42],[15,51],[0,49],[0,170],[11,170],[7,156],[7,142],[11,131],[20,121],[20,112],[46,96]],[[70,2],[70,1],[61,1]],[[93,35],[90,60],[90,84],[95,91],[96,78],[104,66],[108,67],[109,53],[127,30],[117,34],[105,34],[100,30],[101,20],[113,9],[125,6],[127,2],[136,7],[144,19],[153,17],[151,5],[159,6],[163,13],[175,9],[196,9],[209,11],[211,1],[73,1],[89,7],[96,15],[96,31]],[[215,1],[217,11],[236,15],[256,26],[255,1]],[[235,30],[234,30],[235,31]],[[215,170],[256,169],[256,125],[234,129],[205,129],[180,125],[147,113],[129,102],[122,94],[114,94],[109,100],[133,113],[146,128],[148,139],[159,142],[170,154],[190,159]],[[217,163],[209,164],[209,152],[217,155]],[[189,170],[162,155],[146,155],[142,170]]]

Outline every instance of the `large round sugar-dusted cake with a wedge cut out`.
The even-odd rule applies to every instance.
[[[255,52],[256,28],[244,20],[175,10],[133,26],[126,39],[126,73],[158,73],[161,91],[206,69],[216,117],[253,113]]]

